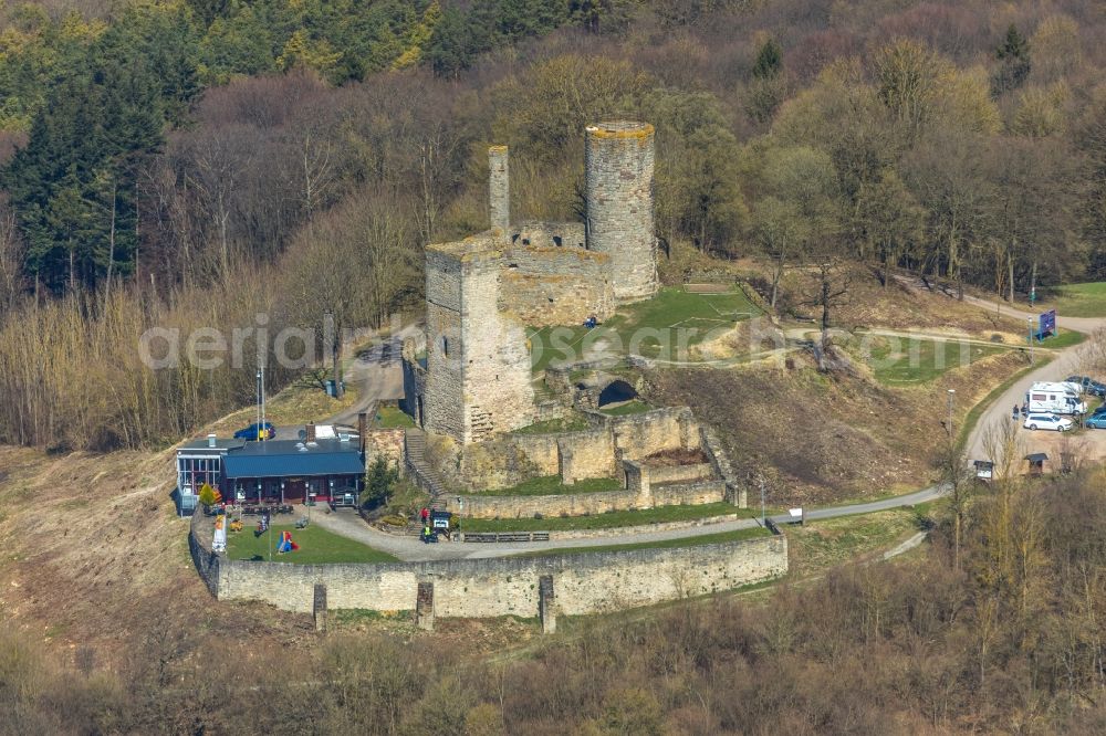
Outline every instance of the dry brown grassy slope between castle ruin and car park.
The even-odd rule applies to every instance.
[[[935,479],[946,389],[956,421],[1023,367],[1002,354],[946,371],[919,387],[887,388],[863,375],[818,374],[804,355],[794,368],[755,364],[731,370],[654,370],[647,396],[687,404],[719,427],[730,456],[764,473],[773,505],[821,505],[920,487]]]

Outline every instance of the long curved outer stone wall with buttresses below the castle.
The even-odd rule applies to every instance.
[[[685,548],[385,565],[222,560],[216,595],[306,613],[314,585],[322,583],[332,609],[409,611],[418,583],[432,582],[438,617],[533,617],[539,578],[552,575],[559,612],[580,616],[728,590],[786,571],[786,537],[773,536]]]

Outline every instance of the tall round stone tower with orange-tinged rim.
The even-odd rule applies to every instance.
[[[616,120],[585,128],[587,248],[611,255],[619,302],[657,293],[653,126]]]

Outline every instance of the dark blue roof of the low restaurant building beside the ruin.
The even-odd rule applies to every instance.
[[[228,479],[361,475],[365,462],[356,442],[327,439],[307,445],[296,440],[269,440],[230,450],[222,467]]]

